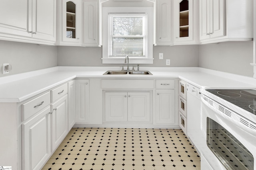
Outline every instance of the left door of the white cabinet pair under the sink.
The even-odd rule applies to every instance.
[[[105,92],[105,120],[127,121],[127,92]]]

